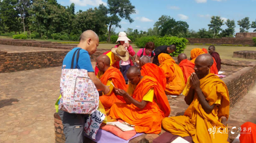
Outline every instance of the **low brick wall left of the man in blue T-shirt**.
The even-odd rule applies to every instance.
[[[62,65],[67,52],[67,50],[24,53],[0,51],[0,73],[58,67]]]

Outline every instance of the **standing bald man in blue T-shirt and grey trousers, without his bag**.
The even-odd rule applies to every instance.
[[[101,81],[94,75],[94,69],[91,64],[90,55],[93,55],[97,50],[97,46],[99,45],[99,37],[98,35],[91,30],[84,31],[81,34],[80,42],[76,48],[70,50],[65,56],[62,64],[62,68],[78,68],[78,69],[86,69],[88,71],[88,76],[94,82],[97,89],[102,90],[104,93],[109,93],[109,87],[105,86],[101,83]],[[76,63],[74,60],[74,66],[72,65],[72,57],[75,55],[74,59],[77,57],[77,53],[79,53],[79,60]],[[61,96],[59,97],[59,99]],[[58,100],[59,100],[58,99]],[[58,103],[59,101],[57,101]],[[58,108],[57,108],[58,109]],[[65,143],[83,143],[84,142],[84,125],[85,118],[88,115],[85,114],[71,114],[68,112],[64,112],[62,110],[56,111],[60,114],[62,119],[62,123],[64,125],[63,132],[66,137]]]

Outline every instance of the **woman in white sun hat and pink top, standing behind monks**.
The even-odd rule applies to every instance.
[[[135,51],[133,50],[133,47],[129,44],[129,42],[131,42],[131,40],[127,37],[125,32],[120,32],[118,34],[118,39],[117,39],[116,43],[117,42],[119,42],[119,44],[115,45],[115,48],[117,48],[119,45],[122,45],[129,52],[130,56],[135,56]],[[129,60],[127,60],[127,61],[121,61],[121,73],[126,82],[128,82],[126,72],[131,66],[133,66],[133,62],[132,62],[131,58],[129,58]]]

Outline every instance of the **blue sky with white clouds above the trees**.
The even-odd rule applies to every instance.
[[[107,6],[107,0],[57,0],[63,6],[75,4],[75,11],[80,9],[86,11],[88,8],[97,7],[101,3]],[[135,6],[136,14],[131,17],[133,23],[122,19],[121,29],[116,32],[125,31],[127,28],[148,31],[153,28],[155,22],[162,15],[169,15],[176,21],[182,20],[189,24],[189,29],[208,29],[211,16],[221,16],[223,19],[234,19],[236,21],[236,32],[239,32],[237,21],[249,17],[250,23],[256,21],[256,0],[130,0]],[[222,29],[227,28],[225,25]],[[254,29],[249,29],[252,32]]]

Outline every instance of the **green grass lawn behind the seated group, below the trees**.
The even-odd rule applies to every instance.
[[[99,44],[98,50],[100,49],[111,49],[116,44]],[[135,52],[138,52],[140,48],[137,48],[135,44],[131,44]],[[208,45],[187,45],[184,53],[190,57],[190,51],[194,48],[205,48],[208,50]],[[238,50],[256,50],[256,47],[239,47],[239,46],[215,46],[216,52],[218,52],[222,59],[239,60],[239,61],[255,61],[251,59],[233,58],[233,52]]]

